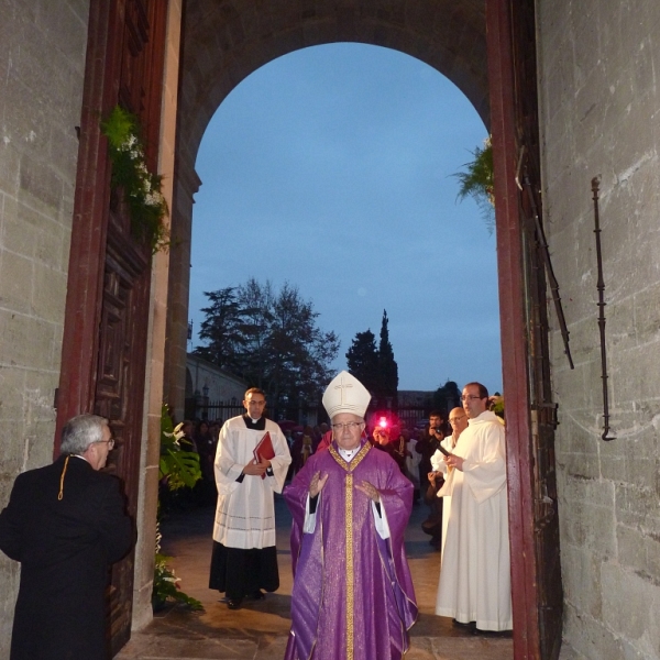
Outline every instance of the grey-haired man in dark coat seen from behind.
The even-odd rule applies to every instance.
[[[21,562],[11,660],[102,660],[108,568],[133,543],[119,480],[99,472],[108,420],[70,419],[62,455],[16,477],[0,514],[0,549]]]

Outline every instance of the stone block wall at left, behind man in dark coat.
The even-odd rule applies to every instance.
[[[88,0],[0,0],[0,507],[53,460]],[[19,566],[0,553],[0,658]]]

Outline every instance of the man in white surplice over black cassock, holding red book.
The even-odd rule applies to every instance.
[[[218,505],[209,588],[226,593],[227,606],[238,609],[245,597],[262,600],[262,590],[279,587],[275,548],[274,493],[282,493],[292,462],[280,428],[263,414],[264,393],[245,393],[245,415],[232,417],[220,430],[215,472]],[[268,433],[275,455],[254,457]]]

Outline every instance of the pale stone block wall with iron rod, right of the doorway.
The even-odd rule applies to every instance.
[[[660,658],[660,3],[538,0],[564,636],[584,658]],[[605,442],[593,177],[613,435]]]

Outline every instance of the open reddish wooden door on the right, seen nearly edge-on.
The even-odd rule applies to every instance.
[[[487,0],[509,474],[515,660],[556,660],[562,604],[556,406],[540,185],[534,0]]]

